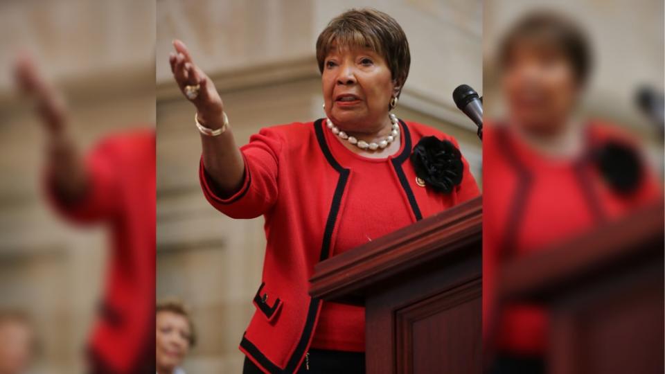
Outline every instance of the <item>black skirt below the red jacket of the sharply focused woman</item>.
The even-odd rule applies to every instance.
[[[310,349],[298,373],[303,374],[364,374],[365,354],[342,350]],[[245,357],[242,374],[263,374],[254,362]]]

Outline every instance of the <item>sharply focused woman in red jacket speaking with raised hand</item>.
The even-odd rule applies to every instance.
[[[391,114],[411,61],[404,31],[378,10],[332,19],[316,46],[326,118],[264,128],[242,148],[211,79],[174,46],[206,199],[229,217],[265,217],[244,372],[364,372],[364,309],[311,298],[314,265],[479,195],[452,136]]]

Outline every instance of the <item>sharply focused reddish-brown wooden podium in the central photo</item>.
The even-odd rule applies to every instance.
[[[481,373],[482,200],[314,268],[310,295],[365,306],[369,374]]]

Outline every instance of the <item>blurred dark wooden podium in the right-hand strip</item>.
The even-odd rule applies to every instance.
[[[549,312],[549,374],[664,373],[663,202],[499,268],[499,303]]]

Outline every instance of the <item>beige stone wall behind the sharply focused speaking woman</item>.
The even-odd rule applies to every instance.
[[[481,183],[481,142],[452,91],[481,94],[482,1],[157,1],[157,299],[190,306],[199,343],[189,373],[239,373],[238,350],[260,284],[263,217],[232,220],[204,199],[195,109],[177,89],[168,64],[181,39],[215,82],[233,134],[245,144],[261,127],[321,118],[316,39],[349,8],[374,7],[394,17],[411,48],[411,70],[396,114],[455,136]],[[315,188],[312,184],[312,188]]]

